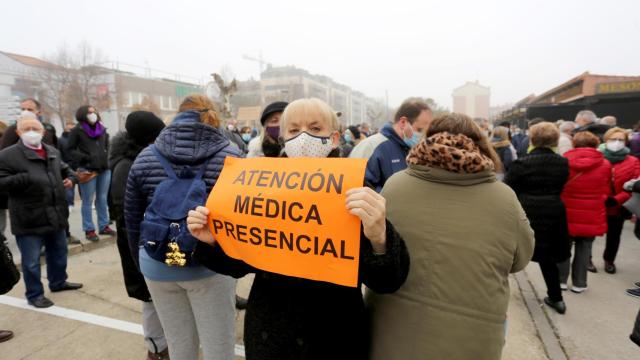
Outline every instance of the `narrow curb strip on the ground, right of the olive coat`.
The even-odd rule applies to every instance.
[[[540,301],[527,273],[523,270],[516,273],[514,277],[547,357],[549,360],[568,360],[569,357],[560,342],[557,329],[553,326],[551,318],[544,309],[544,303]]]

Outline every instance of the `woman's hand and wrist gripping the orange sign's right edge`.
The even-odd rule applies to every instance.
[[[347,191],[347,209],[362,221],[364,235],[376,253],[387,249],[386,200],[368,187]]]

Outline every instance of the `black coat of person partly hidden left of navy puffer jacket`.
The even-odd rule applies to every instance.
[[[136,262],[131,256],[127,230],[124,224],[124,194],[127,188],[127,178],[131,165],[133,165],[136,156],[142,149],[143,147],[136,144],[126,132],[118,133],[111,140],[109,146],[109,168],[111,169],[109,210],[116,220],[118,252],[120,253],[127,294],[141,301],[150,301],[151,295],[147,284],[144,282],[144,276],[138,270]]]

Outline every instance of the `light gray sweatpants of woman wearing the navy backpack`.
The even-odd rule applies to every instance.
[[[236,280],[214,275],[164,282],[145,278],[169,345],[171,360],[232,360]]]

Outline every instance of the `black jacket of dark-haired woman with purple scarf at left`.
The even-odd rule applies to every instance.
[[[104,134],[93,139],[82,129],[82,123],[78,123],[69,134],[67,148],[72,159],[72,167],[97,172],[109,169],[109,134],[106,130]]]

